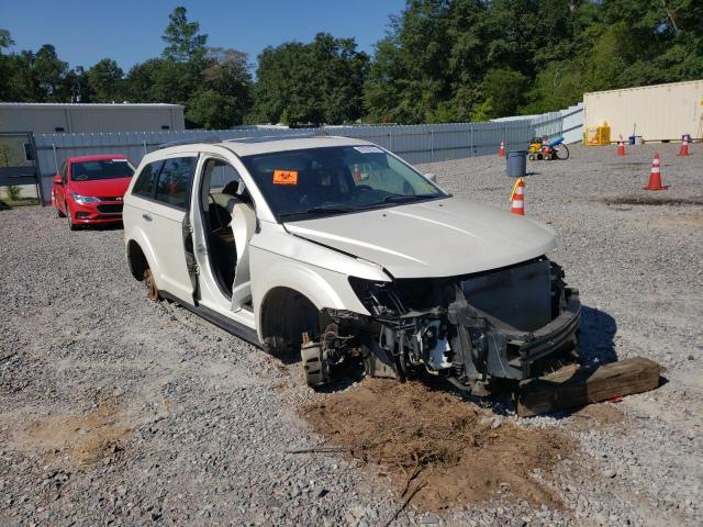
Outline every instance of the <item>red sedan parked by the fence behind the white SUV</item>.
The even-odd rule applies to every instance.
[[[54,176],[52,203],[68,226],[119,223],[134,165],[120,155],[69,157]]]

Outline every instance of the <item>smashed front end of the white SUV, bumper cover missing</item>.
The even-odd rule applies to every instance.
[[[579,293],[546,257],[461,277],[349,282],[371,316],[327,310],[323,362],[360,355],[369,375],[426,371],[481,393],[573,360]]]

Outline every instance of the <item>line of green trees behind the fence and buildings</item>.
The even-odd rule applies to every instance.
[[[159,57],[126,74],[88,69],[51,44],[8,53],[0,30],[0,100],[167,102],[189,127],[243,123],[484,121],[554,111],[598,91],[703,78],[700,0],[408,0],[372,56],[355,38],[319,33],[246,54],[208,46],[176,8]]]

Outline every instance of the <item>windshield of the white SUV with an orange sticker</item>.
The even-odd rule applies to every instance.
[[[333,146],[242,158],[279,221],[446,198],[377,146]]]

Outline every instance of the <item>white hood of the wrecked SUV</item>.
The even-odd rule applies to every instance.
[[[468,274],[557,247],[554,229],[456,198],[286,223],[288,232],[382,266],[394,278]]]

